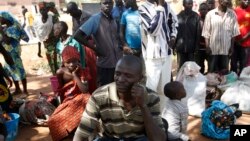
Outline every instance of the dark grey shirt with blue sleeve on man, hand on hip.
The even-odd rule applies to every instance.
[[[115,68],[122,57],[122,50],[118,47],[119,36],[117,24],[114,19],[97,13],[89,18],[80,30],[87,36],[93,35],[98,52],[97,66],[102,68]]]

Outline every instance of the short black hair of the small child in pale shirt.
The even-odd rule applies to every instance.
[[[177,99],[180,87],[184,88],[183,84],[179,81],[169,82],[164,86],[164,95],[169,99]]]

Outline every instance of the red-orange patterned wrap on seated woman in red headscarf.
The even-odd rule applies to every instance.
[[[59,91],[65,98],[48,121],[53,141],[62,140],[77,128],[90,97],[89,94],[81,93],[74,81],[65,84]]]

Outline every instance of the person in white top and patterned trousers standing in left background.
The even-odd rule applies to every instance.
[[[52,2],[40,2],[38,6],[40,14],[35,18],[34,28],[38,40],[44,44],[50,70],[52,74],[55,75],[58,69],[56,43],[59,41],[59,38],[53,34],[53,25],[59,21],[59,14],[55,8],[55,4]],[[53,15],[49,13],[49,11],[52,12]]]

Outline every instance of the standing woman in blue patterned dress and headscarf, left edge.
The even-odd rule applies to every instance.
[[[26,73],[21,59],[20,40],[28,42],[29,38],[21,24],[9,12],[0,11],[0,23],[2,35],[0,43],[14,61],[14,65],[11,66],[5,63],[4,69],[14,81],[16,87],[14,94],[22,93],[18,81],[22,81],[23,93],[28,94]]]

